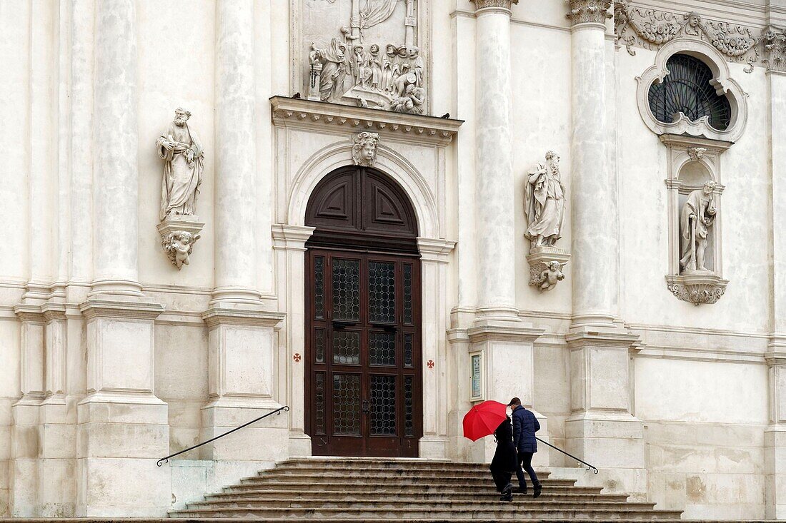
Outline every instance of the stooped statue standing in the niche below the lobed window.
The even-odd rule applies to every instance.
[[[704,266],[704,251],[707,249],[707,236],[718,214],[712,193],[715,182],[707,180],[703,188],[689,194],[680,214],[682,274],[690,272],[711,272]]]

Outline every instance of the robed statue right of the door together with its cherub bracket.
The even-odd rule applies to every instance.
[[[565,185],[560,178],[560,157],[556,152],[545,153],[545,163],[538,163],[527,173],[524,188],[524,214],[530,240],[530,285],[539,291],[551,291],[564,280],[564,266],[571,258],[567,251],[555,247],[562,237],[565,214]]]

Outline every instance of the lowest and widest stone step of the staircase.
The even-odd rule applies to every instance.
[[[650,510],[619,508],[586,508],[566,507],[546,508],[531,507],[523,503],[498,502],[498,506],[478,507],[473,510],[451,510],[435,507],[406,507],[406,508],[276,508],[276,507],[225,507],[222,509],[194,509],[177,510],[172,512],[171,518],[369,518],[375,520],[403,520],[411,521],[424,518],[444,518],[448,521],[464,520],[469,518],[488,519],[491,521],[508,521],[512,519],[543,518],[543,519],[616,519],[619,520],[661,520],[678,519],[681,511]]]

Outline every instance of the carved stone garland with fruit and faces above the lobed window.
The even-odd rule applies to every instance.
[[[771,27],[757,37],[750,27],[709,20],[696,12],[668,13],[632,7],[628,0],[614,0],[614,34],[631,56],[636,54],[633,46],[658,49],[674,38],[698,38],[718,49],[727,60],[747,63],[747,73],[753,72],[762,53],[762,63],[768,70],[783,71],[786,67],[783,30]]]

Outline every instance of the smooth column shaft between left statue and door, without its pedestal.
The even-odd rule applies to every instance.
[[[215,291],[220,302],[258,302],[254,2],[216,3]]]

